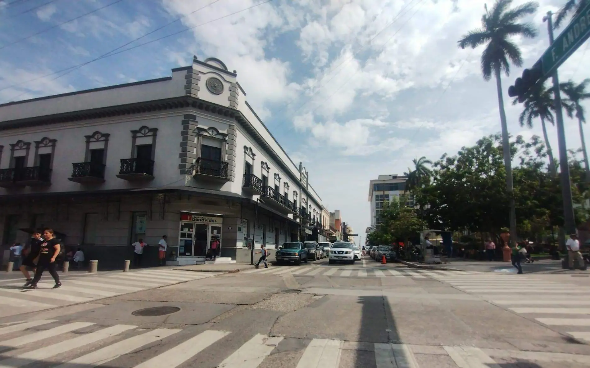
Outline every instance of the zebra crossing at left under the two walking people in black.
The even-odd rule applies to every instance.
[[[214,275],[216,273],[162,269],[107,272],[64,277],[63,287],[55,290],[51,290],[53,280],[47,275],[34,291],[23,291],[21,286],[24,281],[0,281],[0,317],[87,303]]]

